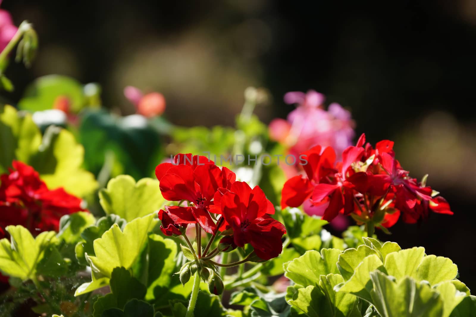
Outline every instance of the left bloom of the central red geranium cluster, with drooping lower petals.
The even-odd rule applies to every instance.
[[[173,163],[162,163],[156,168],[162,196],[170,201],[187,200],[191,207],[178,207],[168,210],[178,219],[191,214],[208,233],[216,230],[216,224],[208,209],[218,188],[230,188],[235,181],[235,173],[228,168],[219,168],[204,156],[178,154]],[[173,217],[171,217],[173,218]],[[187,220],[188,221],[188,220]],[[195,223],[188,222],[188,223]]]

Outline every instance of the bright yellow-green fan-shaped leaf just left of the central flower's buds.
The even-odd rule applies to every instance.
[[[86,254],[91,267],[92,282],[81,285],[75,296],[107,285],[115,267],[131,268],[147,246],[149,232],[156,223],[154,215],[150,214],[129,222],[124,227],[124,232],[114,224],[101,238],[94,240],[96,256]]]

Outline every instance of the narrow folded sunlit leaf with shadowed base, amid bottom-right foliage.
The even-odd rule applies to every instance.
[[[369,255],[360,262],[354,270],[354,275],[340,288],[340,291],[352,293],[368,302],[372,302],[370,291],[373,286],[370,280],[370,272],[375,270],[385,272],[385,267],[377,255]]]

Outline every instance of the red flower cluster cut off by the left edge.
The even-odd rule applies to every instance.
[[[33,235],[58,230],[63,215],[84,210],[81,199],[63,188],[49,190],[38,172],[19,161],[0,176],[0,236],[9,225],[22,225]]]

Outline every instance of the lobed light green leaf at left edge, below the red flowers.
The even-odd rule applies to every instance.
[[[10,277],[23,281],[36,280],[37,265],[50,245],[58,242],[56,232],[40,233],[33,238],[28,229],[22,226],[8,226],[11,242],[7,238],[0,240],[0,270]]]

